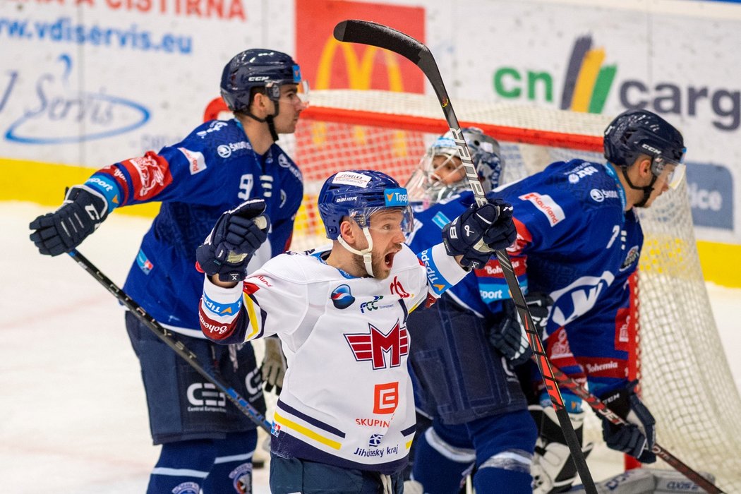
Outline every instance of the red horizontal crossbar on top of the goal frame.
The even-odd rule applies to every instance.
[[[330,121],[338,124],[368,125],[389,129],[414,130],[416,132],[442,134],[448,125],[444,119],[424,116],[379,113],[367,110],[347,110],[336,107],[311,106],[301,114],[302,119]],[[568,147],[576,150],[602,153],[602,136],[556,133],[523,127],[505,127],[484,122],[461,121],[461,127],[479,127],[484,133],[495,136],[499,141],[536,144],[550,147]]]

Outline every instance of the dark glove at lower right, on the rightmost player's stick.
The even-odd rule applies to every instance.
[[[607,407],[625,418],[628,425],[615,425],[602,419],[602,438],[613,450],[622,451],[637,458],[641,463],[654,463],[656,455],[651,452],[656,441],[656,420],[635,392],[638,381],[600,396]]]

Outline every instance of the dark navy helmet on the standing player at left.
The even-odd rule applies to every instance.
[[[247,111],[253,87],[262,87],[273,101],[283,84],[300,84],[301,69],[290,56],[275,50],[253,48],[234,56],[222,72],[222,98],[229,110]]]

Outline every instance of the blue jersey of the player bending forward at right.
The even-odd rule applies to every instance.
[[[554,299],[548,321],[551,361],[588,378],[593,393],[627,378],[631,341],[625,331],[630,291],[643,241],[625,191],[610,164],[556,162],[541,173],[499,187],[514,206],[517,241],[508,249],[523,290]],[[471,193],[416,212],[412,244],[429,242],[473,201]],[[459,305],[491,318],[509,298],[496,258],[448,291]]]

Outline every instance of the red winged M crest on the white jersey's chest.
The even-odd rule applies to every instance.
[[[368,328],[369,333],[345,333],[344,335],[355,360],[370,360],[373,370],[399,367],[402,364],[402,357],[409,353],[407,328],[401,327],[399,321],[396,321],[388,334],[383,334],[370,323]],[[386,354],[388,354],[388,363]]]

